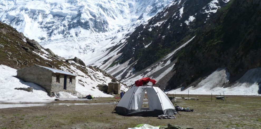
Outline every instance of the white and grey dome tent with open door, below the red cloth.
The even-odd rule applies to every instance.
[[[147,91],[149,107],[142,107]],[[175,115],[177,111],[168,96],[158,87],[133,86],[120,99],[115,111],[126,116]]]

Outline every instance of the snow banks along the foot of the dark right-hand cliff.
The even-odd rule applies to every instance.
[[[236,83],[227,88],[223,88],[224,84],[229,81],[230,73],[226,68],[218,68],[206,79],[202,80],[196,87],[189,87],[186,90],[178,88],[165,93],[189,94],[192,95],[258,95],[261,89],[261,68],[248,70]]]

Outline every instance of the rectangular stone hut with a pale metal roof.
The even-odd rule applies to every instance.
[[[17,78],[43,87],[48,93],[63,90],[75,91],[76,75],[54,68],[33,65],[17,70]]]

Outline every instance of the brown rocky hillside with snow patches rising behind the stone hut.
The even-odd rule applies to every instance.
[[[79,62],[79,64],[78,64]],[[0,22],[0,64],[14,69],[20,69],[31,65],[41,65],[57,68],[74,73],[76,77],[76,91],[74,95],[84,96],[92,94],[96,97],[108,97],[98,90],[98,84],[108,84],[115,78],[105,71],[94,67],[80,65],[77,58],[64,60],[50,49],[44,49],[35,40],[23,36],[11,26]],[[122,86],[124,87],[124,86]]]

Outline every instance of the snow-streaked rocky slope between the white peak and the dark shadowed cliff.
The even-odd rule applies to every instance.
[[[183,44],[188,43],[199,28],[227,2],[175,0],[109,49],[109,52],[97,61],[100,64],[94,64],[99,64],[98,67],[123,81],[136,79],[136,76],[158,77],[159,81],[163,75],[170,72],[168,68],[175,63],[170,57],[179,51]],[[152,69],[155,70],[151,71]],[[172,75],[173,73],[169,76]],[[163,82],[166,81],[168,80]]]

